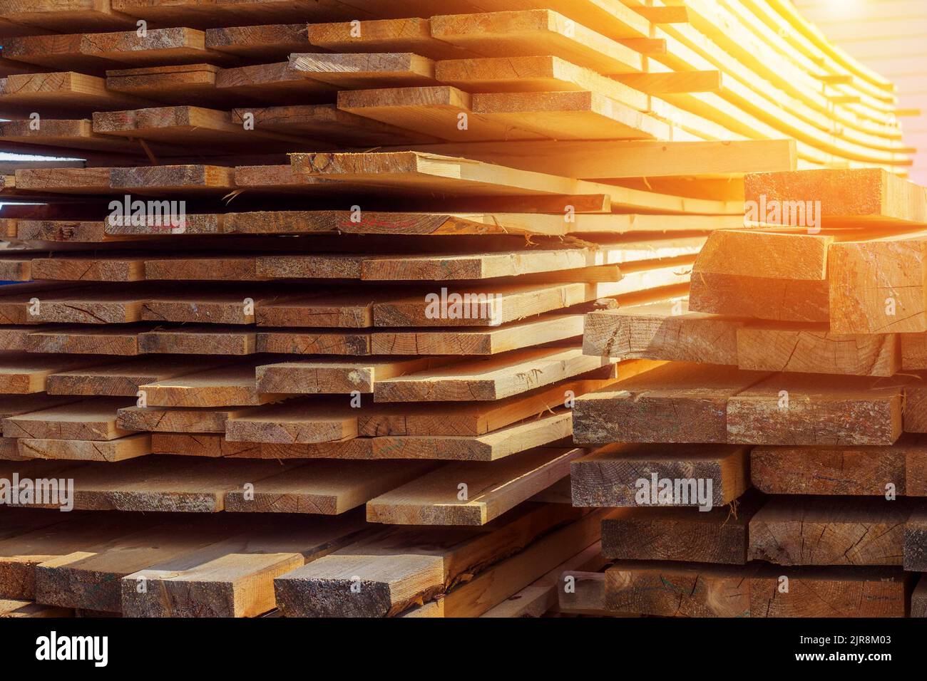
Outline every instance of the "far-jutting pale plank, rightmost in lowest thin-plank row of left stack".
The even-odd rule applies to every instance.
[[[582,449],[537,448],[501,462],[442,466],[367,501],[372,523],[482,525],[569,474]],[[463,486],[463,488],[462,488]]]

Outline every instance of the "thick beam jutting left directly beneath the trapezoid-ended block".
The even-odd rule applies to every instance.
[[[685,299],[596,310],[586,315],[583,352],[619,359],[737,364],[743,324],[736,318],[689,311]]]

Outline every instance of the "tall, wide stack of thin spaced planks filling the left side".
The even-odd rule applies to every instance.
[[[576,471],[633,431],[573,412],[701,391],[726,346],[584,351],[586,315],[694,300],[704,246],[761,233],[751,173],[913,151],[772,0],[0,0],[0,37],[0,148],[65,159],[0,175],[3,616],[596,612],[562,575],[629,516]],[[680,455],[721,506],[716,404],[638,435],[724,443]]]

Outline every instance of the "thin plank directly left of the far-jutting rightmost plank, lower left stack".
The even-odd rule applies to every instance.
[[[227,493],[225,511],[337,515],[432,468],[431,463],[411,461],[307,461],[295,471],[264,478],[253,490]]]

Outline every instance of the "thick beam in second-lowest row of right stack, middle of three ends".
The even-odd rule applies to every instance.
[[[780,565],[901,565],[903,499],[771,497],[750,520],[750,560]]]

